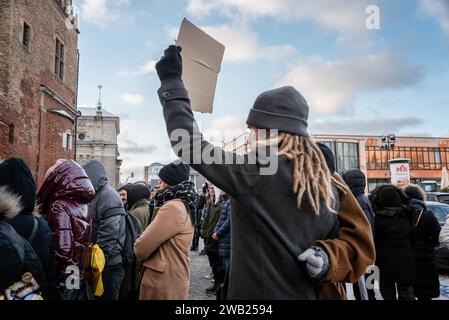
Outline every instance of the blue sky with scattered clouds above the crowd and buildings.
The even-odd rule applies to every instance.
[[[122,179],[171,158],[155,62],[183,17],[226,46],[209,132],[245,129],[267,89],[294,85],[313,133],[449,136],[447,0],[75,0],[79,106],[121,118]],[[345,6],[342,6],[342,3]],[[369,30],[367,7],[380,12]]]

